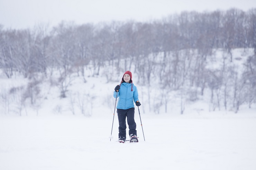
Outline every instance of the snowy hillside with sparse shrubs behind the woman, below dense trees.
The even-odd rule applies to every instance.
[[[194,53],[194,51],[189,52],[189,54],[187,51],[180,51],[180,62],[184,62],[183,69],[186,69],[186,71],[180,70],[180,73],[177,75],[184,74],[186,76],[177,79],[175,84],[173,80],[168,80],[166,76],[169,69],[167,63],[173,63],[175,61],[166,61],[165,67],[162,66],[163,53],[159,53],[158,56],[149,56],[149,59],[154,60],[156,65],[154,66],[154,71],[151,71],[149,74],[150,83],[145,80],[145,70],[147,68],[144,72],[139,72],[135,70],[132,61],[120,61],[121,66],[125,64],[130,64],[131,66],[128,69],[133,73],[132,80],[138,87],[139,99],[143,103],[141,105],[142,113],[180,114],[181,110],[184,114],[197,114],[198,112],[216,110],[226,112],[236,111],[234,107],[236,103],[234,101],[239,98],[237,97],[238,99],[236,99],[233,97],[235,95],[234,89],[241,87],[238,85],[236,87],[234,84],[238,83],[237,79],[244,81],[242,76],[245,69],[244,64],[248,56],[253,55],[253,49],[235,49],[232,54],[234,58],[232,62],[228,61],[229,54],[223,52],[221,49],[213,51],[213,55],[204,61],[206,64],[205,70],[202,70],[200,74],[202,74],[201,76],[205,76],[203,71],[210,73],[206,74],[206,78],[202,77],[204,82],[200,86],[190,85],[192,81],[190,79],[193,75],[189,75],[189,71],[196,69],[193,68],[193,62],[196,61],[194,61],[195,59],[190,61],[188,58],[196,58],[195,56],[197,55]],[[173,66],[170,65],[169,67]],[[113,112],[113,106],[115,104],[115,100],[112,97],[113,89],[120,83],[122,74],[126,70],[114,70],[112,64],[109,62],[106,62],[104,67],[100,69],[98,76],[93,75],[93,69],[89,65],[85,68],[84,77],[74,72],[64,80],[60,79],[62,76],[59,70],[51,71],[52,73],[48,73],[47,76],[42,73],[26,79],[18,72],[11,79],[8,79],[4,73],[0,73],[0,115],[43,116],[52,114],[82,114],[90,117],[105,114],[102,113],[102,110],[104,112]],[[173,73],[170,72],[170,74]],[[237,78],[235,75],[237,75]],[[168,76],[170,77],[170,75]],[[173,77],[171,76],[171,78]],[[182,79],[184,80],[181,82]],[[205,80],[208,82],[205,82]],[[218,81],[220,80],[221,84],[219,85]],[[236,95],[243,94],[243,100],[247,101],[249,96],[246,97],[245,95],[253,94],[253,92],[250,92],[250,87],[243,85],[242,88],[241,91],[236,92]],[[203,95],[201,95],[202,89]],[[66,91],[65,98],[61,97],[62,91]],[[223,104],[225,102],[228,103],[226,109]],[[255,108],[255,102],[253,103],[253,100],[250,102],[252,104],[248,105],[248,102],[245,103],[247,104],[244,105],[247,105],[247,107],[250,106],[252,110]]]

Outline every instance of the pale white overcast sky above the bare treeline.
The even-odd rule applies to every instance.
[[[181,11],[214,11],[256,8],[256,0],[0,0],[4,28],[32,28],[61,21],[76,24],[101,21],[148,21]]]

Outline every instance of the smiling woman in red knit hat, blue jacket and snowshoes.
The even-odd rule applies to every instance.
[[[126,141],[126,117],[129,126],[130,142],[138,142],[136,123],[134,120],[134,103],[140,106],[137,87],[132,83],[132,74],[126,71],[122,77],[120,85],[117,85],[114,91],[114,97],[119,97],[117,103],[117,115],[119,121],[119,139],[120,143]]]

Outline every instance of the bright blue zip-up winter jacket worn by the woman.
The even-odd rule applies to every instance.
[[[117,109],[129,109],[134,108],[134,102],[139,101],[139,95],[137,87],[132,83],[121,83],[120,89],[118,92],[114,91],[114,98],[119,97],[117,103]]]

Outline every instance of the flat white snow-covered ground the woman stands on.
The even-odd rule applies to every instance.
[[[1,170],[255,170],[256,116],[141,114],[138,143],[118,143],[113,114],[0,118]]]

